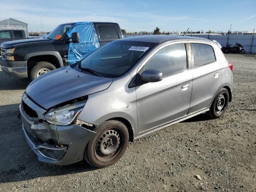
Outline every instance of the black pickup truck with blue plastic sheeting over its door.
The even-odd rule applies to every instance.
[[[0,66],[11,76],[34,80],[46,72],[74,64],[100,46],[120,38],[123,35],[117,23],[61,24],[44,38],[2,43]]]

